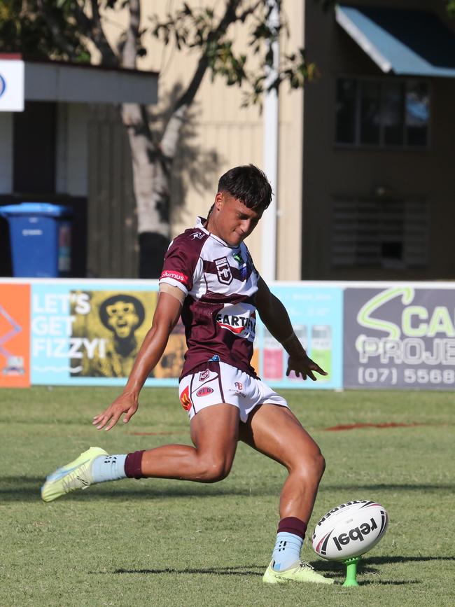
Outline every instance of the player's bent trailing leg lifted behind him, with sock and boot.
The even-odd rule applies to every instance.
[[[121,478],[176,478],[216,482],[228,475],[238,440],[239,410],[226,404],[211,405],[191,420],[189,445],[164,445],[148,451],[108,455],[90,447],[48,475],[41,498],[49,502],[91,484]]]

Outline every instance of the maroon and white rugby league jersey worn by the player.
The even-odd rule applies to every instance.
[[[250,361],[259,274],[243,242],[229,246],[205,223],[198,217],[195,228],[172,241],[160,277],[160,284],[186,295],[181,316],[188,351],[181,377],[214,356],[256,377]]]

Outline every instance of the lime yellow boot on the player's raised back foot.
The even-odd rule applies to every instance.
[[[46,477],[41,487],[41,499],[52,501],[70,491],[87,489],[93,482],[92,463],[100,455],[108,455],[101,447],[90,447],[78,456],[77,459],[67,463],[62,468]]]

